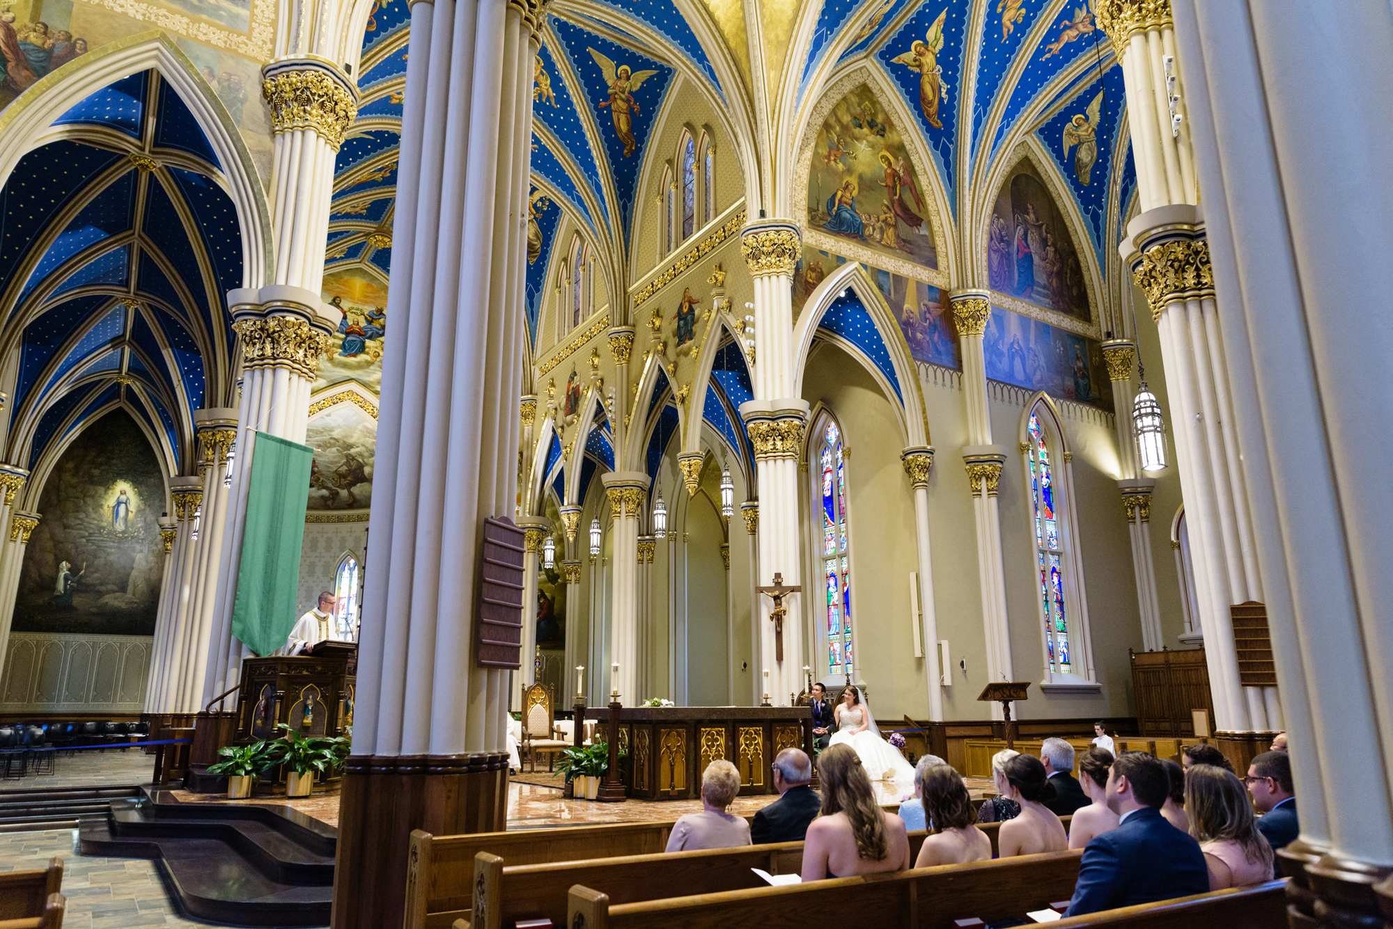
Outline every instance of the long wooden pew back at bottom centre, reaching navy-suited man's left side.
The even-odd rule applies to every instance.
[[[953,929],[954,921],[964,916],[1018,918],[1067,898],[1074,893],[1081,857],[1081,851],[1056,851],[627,904],[612,904],[607,894],[577,886],[570,891],[566,925],[584,925],[585,929],[804,929],[812,918],[819,923],[866,925],[866,916],[873,914],[879,925]],[[460,921],[456,929],[467,925]],[[472,929],[500,929],[500,925],[489,916]]]

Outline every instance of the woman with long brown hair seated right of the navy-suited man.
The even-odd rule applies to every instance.
[[[1190,834],[1199,840],[1209,865],[1209,889],[1245,887],[1272,880],[1272,846],[1258,832],[1243,782],[1212,765],[1185,776]]]

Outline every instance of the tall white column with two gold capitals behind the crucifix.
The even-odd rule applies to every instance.
[[[802,255],[798,225],[790,220],[756,220],[745,225],[741,253],[755,289],[755,399],[740,405],[740,416],[755,455],[759,506],[763,528],[756,535],[759,559],[756,585],[773,584],[781,574],[786,587],[801,587],[802,556],[798,505],[798,460],[804,455],[808,402],[800,396],[793,344],[793,274]],[[769,672],[769,702],[788,701],[805,687],[802,677],[804,633],[811,617],[804,615],[802,592],[784,598],[783,661],[776,658],[773,601],[755,594],[751,609],[758,630],[756,666],[751,669],[756,695],[763,697]]]

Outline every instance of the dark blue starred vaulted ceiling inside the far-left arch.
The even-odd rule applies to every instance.
[[[0,189],[3,334],[20,363],[6,460],[35,467],[113,405],[170,473],[192,413],[231,402],[227,291],[241,227],[213,146],[157,72],[123,78],[54,125]]]

